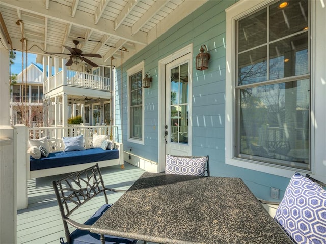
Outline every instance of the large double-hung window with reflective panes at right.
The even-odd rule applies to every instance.
[[[310,1],[269,1],[230,24],[231,158],[310,170]]]

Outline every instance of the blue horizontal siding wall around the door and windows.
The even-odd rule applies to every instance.
[[[261,173],[225,164],[225,74],[226,74],[226,13],[225,9],[237,1],[208,1],[172,26],[154,42],[130,57],[117,68],[116,124],[122,123],[125,150],[148,160],[158,161],[158,62],[181,48],[193,44],[192,67],[192,154],[209,155],[213,176],[240,177],[258,197],[270,199],[270,187],[281,189],[281,197],[289,182],[271,174]],[[195,56],[201,45],[207,45],[211,54],[209,69],[195,69]],[[145,72],[153,81],[150,89],[143,89],[145,100],[145,145],[127,141],[127,74],[126,70],[145,61]],[[121,94],[122,87],[122,94]],[[121,113],[122,112],[122,113]],[[154,129],[155,126],[155,129]],[[120,128],[121,129],[121,128]],[[120,135],[121,136],[121,135]],[[122,139],[122,138],[121,138]]]

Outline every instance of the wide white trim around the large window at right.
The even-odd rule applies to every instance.
[[[250,170],[256,170],[264,173],[279,175],[283,177],[290,178],[296,171],[295,168],[289,168],[285,166],[264,164],[262,162],[248,161],[246,159],[234,158],[234,125],[235,125],[235,60],[236,60],[236,50],[233,48],[236,44],[236,37],[234,35],[236,31],[236,20],[249,14],[266,4],[273,2],[274,0],[264,0],[259,3],[257,1],[251,0],[241,0],[231,7],[227,8],[226,11],[226,105],[225,105],[225,163],[241,168],[246,168]],[[312,1],[313,2],[313,1]],[[313,4],[312,4],[313,5]],[[311,16],[313,15],[313,7]],[[313,23],[311,23],[312,30],[311,33],[314,35]],[[311,48],[311,53],[313,50]],[[313,80],[313,66],[311,65],[311,81]],[[313,94],[313,93],[312,93]],[[313,95],[312,95],[313,96]],[[313,106],[313,101],[311,101],[311,106]],[[313,111],[313,107],[312,107]],[[313,129],[312,129],[313,130]],[[313,131],[311,132],[311,148],[313,148]],[[312,150],[311,150],[312,151]],[[313,151],[311,155],[311,170],[302,172],[313,173]]]

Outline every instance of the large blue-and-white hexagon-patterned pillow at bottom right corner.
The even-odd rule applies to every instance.
[[[294,174],[274,219],[296,243],[326,243],[326,191]]]

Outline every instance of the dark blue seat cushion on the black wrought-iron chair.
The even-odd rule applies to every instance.
[[[97,210],[97,212],[88,219],[84,224],[86,225],[92,225],[95,223],[95,221],[102,216],[102,214],[110,208],[111,205],[103,205],[100,209]],[[114,220],[113,220],[114,221]],[[116,237],[116,236],[110,236],[110,235],[104,235],[105,236],[105,243],[106,244],[133,244],[136,243],[136,240],[126,239],[122,237]],[[78,230],[76,229],[70,234],[71,237],[71,244],[100,244],[100,235],[91,233],[87,230]]]

